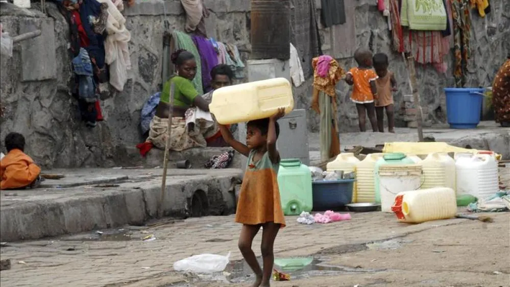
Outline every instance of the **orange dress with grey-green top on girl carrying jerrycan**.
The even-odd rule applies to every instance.
[[[285,226],[280,190],[278,188],[279,164],[274,164],[266,152],[254,163],[255,151],[248,155],[248,166],[242,179],[241,192],[237,201],[235,222],[259,225],[274,222]]]

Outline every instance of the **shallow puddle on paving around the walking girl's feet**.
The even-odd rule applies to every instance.
[[[274,268],[280,272],[290,275],[290,280],[299,280],[317,276],[334,276],[346,273],[368,273],[380,272],[378,269],[362,269],[350,268],[344,266],[328,265],[329,258],[283,258],[275,259]],[[262,259],[258,258],[259,264],[262,266]],[[282,266],[280,266],[282,265]],[[245,283],[255,280],[253,272],[245,260],[232,261],[227,265],[223,273],[217,274],[200,274],[197,275],[200,281],[219,281],[225,283]],[[193,286],[189,282],[177,283],[169,286],[174,287],[189,287]]]

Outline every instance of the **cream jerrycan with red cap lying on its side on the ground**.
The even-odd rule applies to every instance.
[[[449,187],[434,187],[402,192],[395,198],[392,210],[400,222],[449,219],[457,212],[455,191]]]

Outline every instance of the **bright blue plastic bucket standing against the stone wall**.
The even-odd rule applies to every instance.
[[[445,88],[446,115],[451,129],[474,129],[480,123],[485,89]]]

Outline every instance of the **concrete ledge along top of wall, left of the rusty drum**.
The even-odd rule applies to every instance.
[[[249,0],[206,0],[205,6],[214,13],[249,12]],[[136,0],[135,5],[124,10],[126,16],[181,15],[184,9],[180,1]]]

